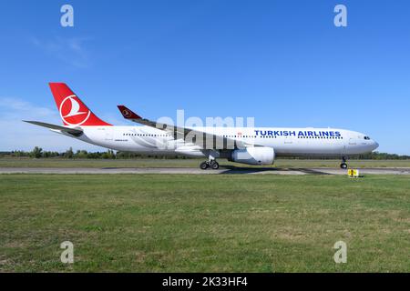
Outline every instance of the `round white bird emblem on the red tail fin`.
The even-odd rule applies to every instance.
[[[91,111],[76,95],[69,95],[61,102],[60,115],[67,125],[82,125],[91,115]]]

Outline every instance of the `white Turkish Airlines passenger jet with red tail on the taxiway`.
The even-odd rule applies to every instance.
[[[272,165],[278,156],[317,156],[342,159],[372,152],[379,145],[359,132],[313,127],[175,126],[151,121],[118,105],[128,121],[138,125],[110,125],[97,117],[65,84],[49,83],[63,125],[26,121],[88,144],[144,155],[206,157],[200,168],[218,169],[217,158],[246,165]]]

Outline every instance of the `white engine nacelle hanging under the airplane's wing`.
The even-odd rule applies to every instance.
[[[245,149],[236,149],[231,153],[231,161],[248,165],[272,165],[275,151],[272,147],[251,146]]]

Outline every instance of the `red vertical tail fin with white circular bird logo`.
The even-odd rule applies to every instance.
[[[49,83],[64,125],[110,125],[88,109],[65,83]]]

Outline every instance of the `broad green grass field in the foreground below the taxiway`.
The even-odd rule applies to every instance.
[[[410,180],[1,175],[0,271],[409,272]]]

